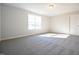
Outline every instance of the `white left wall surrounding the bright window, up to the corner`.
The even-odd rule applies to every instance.
[[[28,13],[29,11],[2,5],[2,38],[9,39],[21,36],[27,36],[37,33],[48,32],[48,17],[42,16],[42,30],[30,31],[28,30]]]

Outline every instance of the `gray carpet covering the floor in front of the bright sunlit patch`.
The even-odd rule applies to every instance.
[[[5,55],[79,55],[79,36],[35,35],[5,40],[0,43],[0,52]]]

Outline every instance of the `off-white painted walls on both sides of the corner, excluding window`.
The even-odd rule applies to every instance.
[[[52,17],[42,16],[42,30],[28,30],[28,13],[33,12],[4,4],[2,5],[1,12],[1,33],[3,40],[46,32],[69,34],[69,16],[79,14],[78,11]]]

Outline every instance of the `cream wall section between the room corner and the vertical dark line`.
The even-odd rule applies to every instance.
[[[59,15],[51,18],[51,31],[56,33],[68,33],[69,22],[67,15]]]

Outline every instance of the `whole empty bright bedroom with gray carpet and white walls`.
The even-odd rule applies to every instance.
[[[79,55],[79,3],[0,3],[0,55]]]

